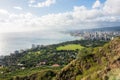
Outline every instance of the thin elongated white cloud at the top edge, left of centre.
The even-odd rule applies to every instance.
[[[37,4],[29,4],[30,7],[49,7],[52,4],[55,4],[56,0],[46,0],[44,2],[38,2]]]

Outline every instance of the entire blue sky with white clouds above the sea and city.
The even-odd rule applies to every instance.
[[[120,0],[0,0],[0,33],[120,26]]]

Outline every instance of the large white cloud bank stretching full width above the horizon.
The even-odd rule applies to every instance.
[[[0,32],[68,30],[120,25],[119,0],[111,1],[107,0],[100,8],[88,9],[85,6],[75,6],[70,12],[41,17],[31,13],[13,14],[0,9]]]

